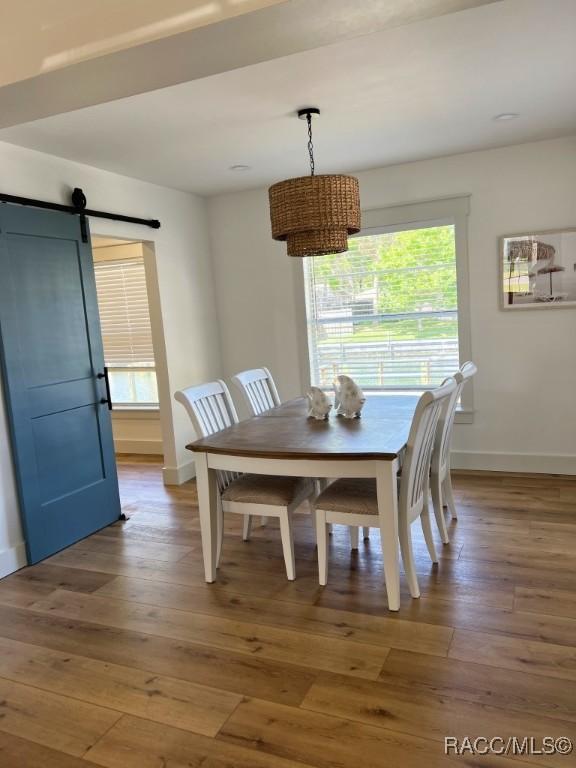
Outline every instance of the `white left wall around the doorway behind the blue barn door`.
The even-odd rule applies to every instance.
[[[0,143],[0,169],[2,192],[67,203],[69,190],[78,186],[84,189],[90,208],[162,222],[161,229],[151,230],[93,219],[92,229],[100,235],[154,241],[153,266],[158,274],[166,347],[166,375],[159,377],[165,477],[172,482],[189,477],[193,465],[184,446],[193,439],[193,432],[172,395],[191,382],[219,375],[221,366],[205,201],[4,143]],[[8,446],[2,401],[0,567],[3,558],[7,561],[21,552],[22,543]]]

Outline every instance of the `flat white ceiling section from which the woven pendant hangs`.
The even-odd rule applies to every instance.
[[[504,0],[0,131],[200,194],[576,133],[575,0]],[[518,112],[510,122],[494,122]],[[232,172],[235,164],[250,171]]]

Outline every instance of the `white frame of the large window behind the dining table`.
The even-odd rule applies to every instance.
[[[362,211],[362,229],[355,235],[355,237],[380,235],[405,229],[425,229],[447,224],[454,226],[456,286],[458,294],[458,354],[460,365],[472,359],[468,266],[469,213],[470,195],[458,195],[436,200],[404,203],[386,208],[370,209]],[[301,384],[303,391],[306,391],[310,386],[311,372],[304,262],[302,259],[294,259],[293,261]],[[374,392],[374,394],[377,393]],[[404,394],[407,393],[404,391]],[[456,422],[472,423],[473,416],[474,390],[472,382],[469,382],[462,391],[461,402],[456,412]]]

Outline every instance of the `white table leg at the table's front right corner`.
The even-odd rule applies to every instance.
[[[400,565],[398,561],[398,491],[396,488],[397,461],[378,462],[376,487],[378,491],[378,512],[380,537],[384,557],[384,575],[388,608],[400,609]]]

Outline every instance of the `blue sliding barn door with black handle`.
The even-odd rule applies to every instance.
[[[90,243],[79,217],[0,203],[4,393],[28,560],[120,515]]]

